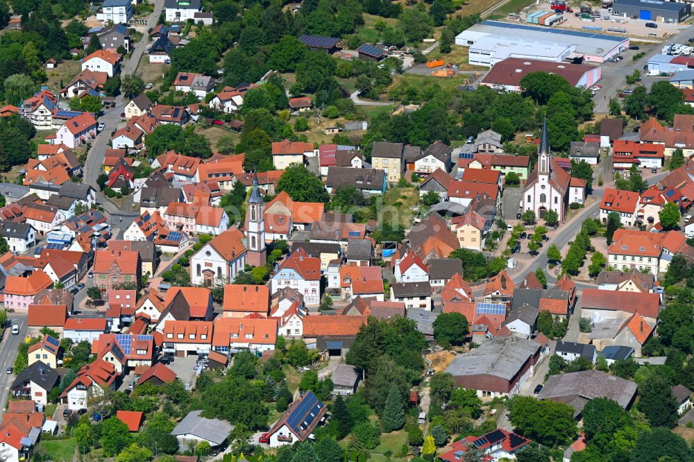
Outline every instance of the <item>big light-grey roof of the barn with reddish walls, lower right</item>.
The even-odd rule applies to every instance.
[[[496,337],[464,354],[458,354],[446,368],[453,377],[491,375],[511,380],[542,345],[516,336]]]

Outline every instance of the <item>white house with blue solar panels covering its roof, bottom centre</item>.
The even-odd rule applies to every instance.
[[[328,409],[312,391],[306,391],[289,405],[280,420],[268,432],[270,447],[303,443],[309,439],[318,425],[325,420]]]

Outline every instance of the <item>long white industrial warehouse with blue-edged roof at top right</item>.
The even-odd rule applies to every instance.
[[[491,67],[507,58],[604,62],[629,48],[629,39],[591,32],[483,21],[455,37],[469,46],[472,65]]]

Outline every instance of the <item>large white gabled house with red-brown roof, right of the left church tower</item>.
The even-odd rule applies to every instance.
[[[310,257],[301,248],[289,254],[270,279],[271,293],[282,287],[298,290],[307,306],[318,306],[321,302],[321,259]]]

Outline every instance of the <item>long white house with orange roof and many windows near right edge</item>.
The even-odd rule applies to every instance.
[[[647,271],[655,277],[668,271],[673,255],[689,248],[679,231],[616,230],[607,248],[607,264],[622,271]]]

